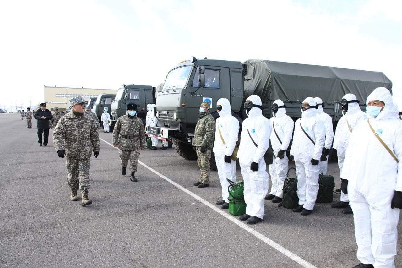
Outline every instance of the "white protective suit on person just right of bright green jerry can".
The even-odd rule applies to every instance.
[[[257,95],[251,95],[246,101],[261,105],[261,99]],[[258,148],[251,141],[247,130]],[[242,123],[238,157],[244,180],[246,214],[260,219],[264,218],[264,198],[268,192],[268,173],[264,155],[269,147],[268,137],[270,135],[271,124],[269,120],[263,116],[263,111],[260,108],[252,107],[248,112],[248,118]],[[258,163],[257,171],[250,169],[252,162]]]

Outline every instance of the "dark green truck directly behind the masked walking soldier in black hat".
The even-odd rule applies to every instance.
[[[117,93],[111,105],[111,118],[106,123],[113,128],[117,119],[125,115],[127,103],[137,104],[137,116],[141,118],[145,126],[145,118],[147,115],[147,105],[155,103],[155,88],[144,85],[123,85]]]

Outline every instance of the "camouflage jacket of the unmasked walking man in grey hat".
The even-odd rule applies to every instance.
[[[53,131],[53,143],[56,152],[66,150],[69,159],[88,159],[92,151],[100,151],[98,129],[86,113],[77,116],[70,111],[64,115]]]

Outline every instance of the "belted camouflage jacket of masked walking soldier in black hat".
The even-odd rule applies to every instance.
[[[119,134],[135,137],[128,139],[119,136]],[[113,144],[119,144],[119,149],[125,151],[145,147],[145,128],[142,120],[137,115],[132,118],[127,114],[120,116],[113,129]]]

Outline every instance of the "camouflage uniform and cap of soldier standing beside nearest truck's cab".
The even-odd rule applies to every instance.
[[[209,110],[200,113],[200,118],[195,126],[193,146],[197,147],[197,163],[201,169],[199,182],[209,184],[209,159],[211,159],[211,150],[213,147],[213,138],[215,136],[215,119],[209,113]],[[200,147],[205,148],[202,153]]]

